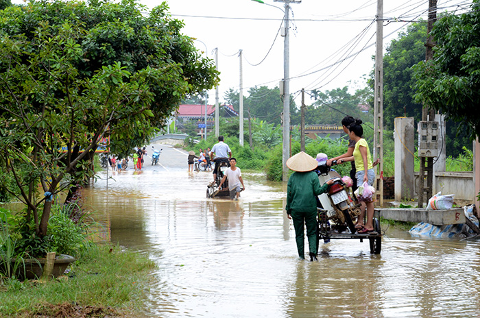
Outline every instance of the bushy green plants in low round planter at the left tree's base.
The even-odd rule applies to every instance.
[[[75,223],[72,211],[77,204],[52,206],[49,234],[36,236],[33,222],[26,222],[21,215],[0,208],[0,274],[10,278],[34,279],[43,275],[48,252],[55,252],[51,276],[64,273],[91,244],[88,227],[81,217]]]

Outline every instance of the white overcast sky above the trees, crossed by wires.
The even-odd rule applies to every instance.
[[[276,34],[285,3],[263,1],[265,4],[252,0],[167,1],[173,18],[185,23],[182,33],[197,38],[198,49],[214,58],[213,49],[218,48],[220,102],[230,88],[239,90],[240,49],[244,96],[248,96],[252,86],[274,88],[283,79],[284,38]],[[148,8],[160,3],[139,2]],[[400,29],[405,31],[409,21],[418,21],[420,17],[426,20],[428,2],[384,0],[383,16],[388,21],[383,23],[383,47],[397,37]],[[302,0],[290,4],[290,93],[296,97],[297,105],[301,103],[298,92],[302,88],[325,91],[349,86],[353,93],[365,86],[363,77],[374,67],[376,3],[376,0]],[[438,0],[438,12],[461,12],[469,3],[470,0]],[[208,92],[208,103],[215,103],[215,89]]]

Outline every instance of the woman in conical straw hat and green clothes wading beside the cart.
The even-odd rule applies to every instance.
[[[328,180],[320,186],[317,173],[317,160],[313,159],[303,151],[287,160],[287,167],[296,171],[290,175],[287,186],[287,217],[293,220],[295,228],[295,239],[297,243],[298,256],[304,255],[304,226],[307,227],[309,238],[310,260],[317,259],[317,239],[315,228],[317,226],[317,200],[316,196],[325,193],[333,180]]]

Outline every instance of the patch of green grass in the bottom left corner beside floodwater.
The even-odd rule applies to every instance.
[[[56,280],[0,280],[0,317],[139,317],[154,269],[146,256],[96,245]]]

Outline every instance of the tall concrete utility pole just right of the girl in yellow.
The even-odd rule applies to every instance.
[[[379,175],[376,178],[376,201],[383,206],[383,0],[376,2],[374,121],[373,158],[380,160],[375,167],[375,175]]]

